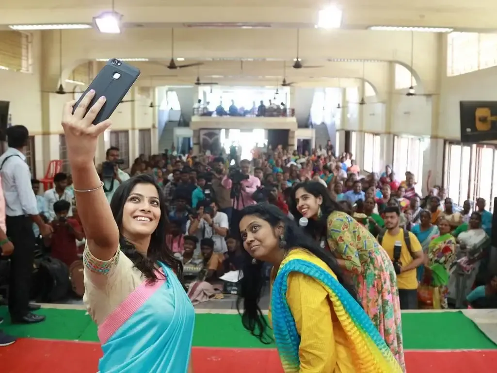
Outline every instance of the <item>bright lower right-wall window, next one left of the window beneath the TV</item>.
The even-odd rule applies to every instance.
[[[422,185],[423,140],[416,137],[394,137],[393,169],[398,180],[405,180],[406,172],[414,174],[417,184]]]

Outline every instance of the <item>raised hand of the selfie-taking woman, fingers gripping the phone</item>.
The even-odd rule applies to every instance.
[[[93,165],[98,136],[112,124],[109,119],[96,125],[92,124],[105,103],[105,97],[100,97],[86,113],[94,95],[95,91],[88,91],[74,110],[74,114],[73,108],[76,101],[70,101],[64,105],[62,127],[66,136],[68,160],[73,169],[87,167],[89,164]]]

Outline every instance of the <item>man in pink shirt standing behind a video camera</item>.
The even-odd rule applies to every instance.
[[[240,190],[240,198],[238,201],[234,201],[234,207],[235,209],[233,210],[233,215],[231,217],[231,222],[230,222],[230,231],[235,232],[238,231],[239,227],[238,224],[240,223],[240,213],[239,211],[243,209],[245,206],[250,206],[251,204],[255,204],[256,202],[252,198],[252,194],[257,190],[258,187],[260,187],[260,180],[256,178],[253,175],[250,175],[250,161],[247,159],[244,159],[240,161],[240,170],[242,171],[243,175],[247,175],[248,179],[242,180],[241,184],[241,190]],[[223,178],[223,181],[221,182],[223,187],[227,189],[231,189],[233,186],[233,182],[231,179],[228,178],[228,176],[225,176]]]

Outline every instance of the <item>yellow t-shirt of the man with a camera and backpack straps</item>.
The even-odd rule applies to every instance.
[[[411,238],[411,251],[413,253],[421,251],[422,247],[419,241],[417,240],[416,236],[414,236],[413,233],[409,232],[409,237]],[[404,242],[404,231],[402,230],[402,228],[400,229],[399,233],[396,236],[392,236],[390,233],[388,233],[388,231],[385,232],[383,241],[380,242],[380,244],[383,247],[383,249],[385,249],[390,259],[393,260],[395,241],[402,242],[401,258],[400,258],[401,266],[402,267],[408,266],[413,261],[413,257],[411,256],[411,253],[409,252],[409,249],[407,248],[406,243]],[[397,286],[399,287],[399,289],[405,289],[405,290],[417,289],[416,269],[408,272],[403,272],[400,275],[397,275]]]

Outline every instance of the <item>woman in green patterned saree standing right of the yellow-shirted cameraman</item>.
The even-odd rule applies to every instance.
[[[423,284],[432,287],[433,308],[446,309],[449,284],[449,270],[456,259],[456,239],[450,234],[451,226],[447,219],[438,221],[440,236],[428,245]],[[440,299],[435,301],[435,299]]]

